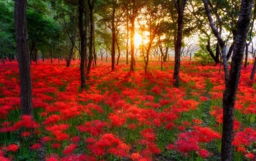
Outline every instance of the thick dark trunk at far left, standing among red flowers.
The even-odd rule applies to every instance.
[[[15,0],[14,12],[16,52],[18,55],[20,78],[20,109],[22,115],[29,115],[33,118],[32,82],[26,18],[27,0]]]

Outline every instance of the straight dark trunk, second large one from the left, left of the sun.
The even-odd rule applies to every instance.
[[[84,0],[79,0],[79,33],[80,33],[80,75],[81,90],[85,89],[85,32],[82,15],[84,14]]]

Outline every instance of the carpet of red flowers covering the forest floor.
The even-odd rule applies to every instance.
[[[32,63],[34,120],[20,118],[18,63],[0,64],[0,160],[220,160],[224,73],[219,66],[98,62],[80,91],[79,61]],[[255,160],[256,82],[242,68],[234,159]],[[20,133],[22,131],[22,133]]]

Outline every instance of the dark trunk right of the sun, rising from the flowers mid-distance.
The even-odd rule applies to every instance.
[[[178,13],[177,18],[177,37],[175,42],[175,64],[174,64],[174,86],[179,87],[179,72],[180,72],[180,50],[182,44],[182,28],[183,28],[183,18],[184,18],[184,9],[187,0],[174,1],[176,10]]]

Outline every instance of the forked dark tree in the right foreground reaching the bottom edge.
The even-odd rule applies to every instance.
[[[222,53],[226,53],[224,41],[220,37],[216,27],[213,24],[212,15],[208,7],[208,1],[203,0],[205,11],[208,16],[210,27],[214,35],[220,42]],[[236,41],[234,43],[232,62],[230,71],[225,69],[225,91],[223,94],[223,125],[221,138],[221,160],[232,160],[232,141],[233,141],[233,123],[234,123],[234,104],[238,83],[240,80],[243,52],[245,50],[247,32],[249,31],[249,23],[251,17],[252,0],[242,0],[240,15],[237,22]],[[226,54],[224,54],[226,57]],[[226,63],[226,62],[224,62]],[[225,66],[224,66],[225,67]]]

